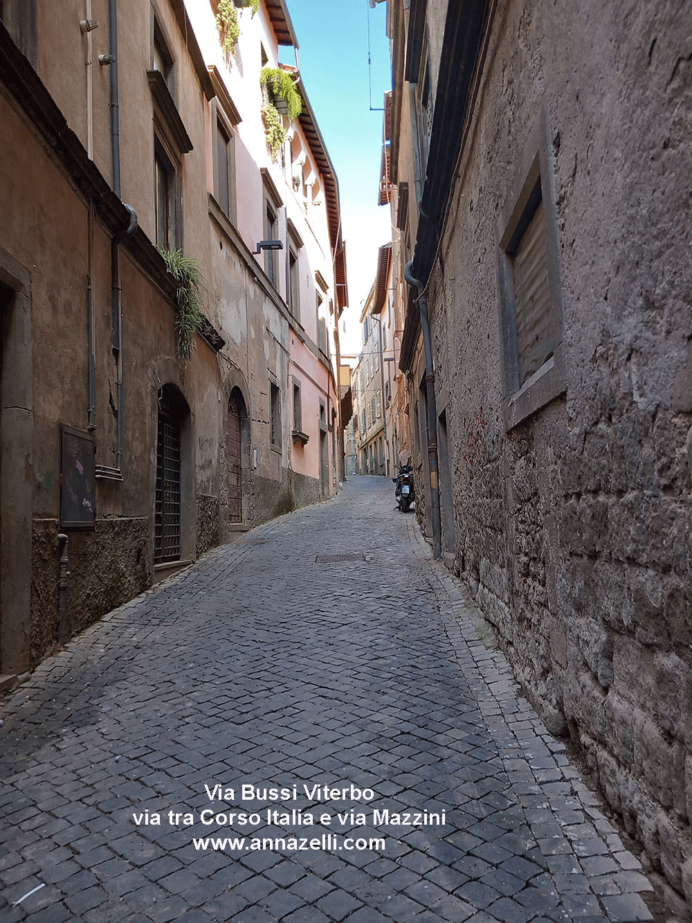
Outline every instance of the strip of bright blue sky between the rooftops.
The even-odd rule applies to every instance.
[[[287,0],[300,45],[301,76],[339,178],[349,278],[343,352],[359,349],[353,320],[375,278],[377,248],[391,235],[389,210],[377,205],[382,152],[382,98],[391,86],[387,4],[368,0]],[[370,59],[368,68],[368,24]],[[281,60],[293,64],[292,49]],[[368,73],[370,70],[370,74]]]

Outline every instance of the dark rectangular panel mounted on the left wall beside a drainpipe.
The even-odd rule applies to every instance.
[[[86,433],[60,428],[60,528],[96,527],[96,446]]]

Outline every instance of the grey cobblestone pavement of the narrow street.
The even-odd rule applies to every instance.
[[[390,481],[352,479],[3,702],[0,919],[654,918],[637,858],[393,506]]]

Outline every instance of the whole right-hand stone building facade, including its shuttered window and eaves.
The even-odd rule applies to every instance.
[[[418,515],[688,901],[690,12],[388,0]]]

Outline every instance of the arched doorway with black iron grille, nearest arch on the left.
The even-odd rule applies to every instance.
[[[183,426],[190,409],[174,385],[159,391],[154,504],[154,564],[181,557]]]

